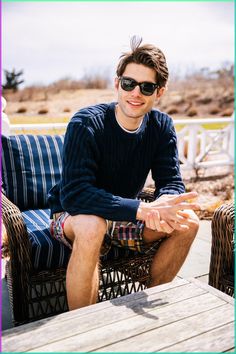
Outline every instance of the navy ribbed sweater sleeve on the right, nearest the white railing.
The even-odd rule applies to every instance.
[[[164,118],[160,131],[158,149],[152,164],[152,178],[155,181],[155,198],[163,194],[185,192],[180,173],[177,136],[169,116]]]

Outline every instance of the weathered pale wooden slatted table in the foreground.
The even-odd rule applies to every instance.
[[[5,352],[221,352],[234,348],[233,298],[168,284],[3,332]]]

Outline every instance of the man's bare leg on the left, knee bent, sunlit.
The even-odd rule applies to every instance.
[[[93,215],[69,216],[64,231],[73,242],[66,273],[67,301],[69,309],[73,310],[97,300],[100,248],[106,222]]]

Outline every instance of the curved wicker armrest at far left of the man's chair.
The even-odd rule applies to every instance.
[[[3,257],[8,258],[9,274],[14,279],[12,282],[12,301],[17,299],[21,304],[14,309],[14,317],[28,311],[27,291],[28,279],[32,270],[31,246],[19,208],[2,193],[2,220],[7,237],[3,242]]]

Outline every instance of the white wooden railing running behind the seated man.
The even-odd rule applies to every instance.
[[[5,108],[2,107],[2,108]],[[67,123],[47,124],[11,124],[3,113],[2,132],[25,134],[32,131],[65,130]],[[214,129],[218,124],[221,129]],[[234,117],[175,119],[174,125],[178,137],[179,159],[181,169],[198,170],[215,166],[232,166],[234,164]],[[204,127],[207,125],[207,128]]]

